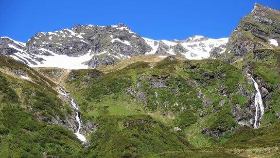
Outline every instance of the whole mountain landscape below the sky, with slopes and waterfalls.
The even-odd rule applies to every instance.
[[[278,13],[255,4],[229,39],[1,38],[0,156],[278,157]]]

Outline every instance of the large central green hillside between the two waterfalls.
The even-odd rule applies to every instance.
[[[195,65],[196,68],[190,69],[190,65]],[[214,77],[208,79],[205,74]],[[166,86],[151,87],[153,79],[164,80]],[[198,83],[196,89],[188,84],[188,79]],[[209,86],[203,86],[203,83],[207,83]],[[254,90],[252,85],[246,82],[242,72],[226,62],[211,59],[193,61],[164,59],[157,62],[153,68],[147,62],[135,62],[121,70],[107,73],[99,79],[91,80],[88,87],[73,92],[72,97],[77,99],[80,105],[82,119],[84,121],[92,120],[101,126],[90,136],[93,144],[95,144],[94,142],[99,143],[95,144],[91,152],[88,151],[89,153],[93,152],[95,156],[112,156],[110,153],[114,151],[119,156],[125,155],[127,152],[130,156],[148,156],[161,151],[189,148],[190,145],[182,146],[187,140],[193,146],[211,146],[225,142],[232,135],[231,127],[238,125],[229,109],[230,105],[235,102],[219,92],[222,84],[233,96],[238,96],[239,84],[249,91]],[[131,88],[137,93],[144,93],[145,99],[141,100],[139,97],[130,95],[125,91],[127,88]],[[202,100],[197,97],[198,90],[212,100],[211,106],[202,107]],[[157,93],[157,97],[155,93]],[[219,102],[222,99],[225,99],[226,103],[220,106]],[[181,111],[181,108],[185,110]],[[213,109],[215,109],[215,113],[213,113]],[[207,117],[199,117],[202,113]],[[139,119],[139,117],[144,117],[144,119]],[[142,126],[142,123],[137,121],[136,126],[124,126],[123,119],[125,118],[134,122],[143,121],[145,125]],[[174,127],[179,127],[182,131],[174,131]],[[153,130],[150,131],[149,128]],[[205,128],[213,132],[223,131],[224,134],[220,139],[211,138],[201,134]],[[135,136],[131,131],[137,131],[135,140],[132,139]],[[147,131],[146,133],[163,131],[163,133],[145,136],[145,133],[140,131]],[[169,137],[166,137],[166,133],[172,136],[171,141],[174,143],[168,140]],[[119,137],[121,138],[116,139]],[[112,141],[114,143],[111,144]],[[134,141],[138,143],[132,143]],[[123,142],[127,143],[126,148],[120,147],[119,149],[114,145],[120,143],[123,145]],[[169,144],[168,148],[165,147],[164,142]],[[144,151],[139,144],[144,144],[147,151]],[[160,150],[154,149],[155,146],[160,147]],[[179,149],[178,146],[182,146],[182,148]],[[149,148],[153,150],[150,151]],[[105,151],[101,149],[105,149]]]

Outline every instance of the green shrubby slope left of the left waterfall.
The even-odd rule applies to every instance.
[[[82,149],[74,134],[63,127],[48,125],[36,116],[65,119],[69,105],[57,98],[50,80],[13,59],[1,57],[0,68],[0,155],[1,157],[75,157]],[[12,70],[21,70],[32,81],[18,79]],[[42,86],[44,85],[44,86]]]

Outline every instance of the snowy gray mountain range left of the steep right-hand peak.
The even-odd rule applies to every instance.
[[[185,40],[142,38],[123,24],[113,26],[76,25],[72,30],[37,33],[26,44],[7,37],[0,39],[1,55],[23,61],[31,67],[65,69],[96,68],[144,54],[178,55],[205,59],[225,51],[227,38],[193,36]]]

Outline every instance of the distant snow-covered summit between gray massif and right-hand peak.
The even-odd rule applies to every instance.
[[[146,54],[178,55],[187,59],[206,59],[226,50],[228,38],[210,39],[192,36],[185,40],[151,40],[143,38],[153,50]]]

